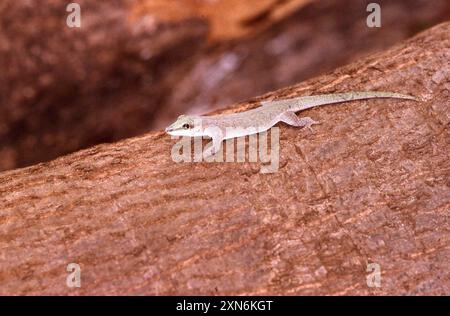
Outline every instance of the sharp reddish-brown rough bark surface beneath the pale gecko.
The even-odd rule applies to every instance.
[[[450,294],[450,23],[259,99],[413,94],[280,125],[280,170],[152,132],[0,174],[0,294]],[[256,106],[248,102],[228,111]],[[81,266],[81,288],[66,266]],[[366,284],[380,265],[380,288]]]

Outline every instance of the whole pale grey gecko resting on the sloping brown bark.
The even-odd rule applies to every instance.
[[[190,136],[212,139],[212,146],[207,148],[204,157],[217,153],[226,139],[247,136],[269,130],[279,122],[295,127],[308,128],[320,124],[310,117],[298,117],[295,113],[313,107],[373,98],[396,98],[418,101],[413,96],[394,92],[347,92],[312,96],[302,96],[275,101],[263,101],[257,108],[231,114],[214,116],[180,115],[166,128],[172,136]]]

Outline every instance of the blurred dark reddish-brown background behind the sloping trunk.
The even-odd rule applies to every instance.
[[[0,2],[0,171],[163,129],[450,19],[448,0],[79,0],[70,28],[71,2]]]

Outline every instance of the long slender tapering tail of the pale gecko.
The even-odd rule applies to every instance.
[[[280,102],[281,104],[285,104],[288,110],[293,112],[298,112],[302,110],[306,110],[309,108],[313,108],[319,105],[325,104],[333,104],[333,103],[341,103],[348,102],[354,100],[364,100],[364,99],[375,99],[375,98],[395,98],[395,99],[407,99],[407,100],[415,100],[418,101],[417,98],[400,94],[394,92],[348,92],[348,93],[333,93],[333,94],[322,94],[322,95],[312,95],[305,96],[293,99],[279,100],[274,101],[274,103]]]

